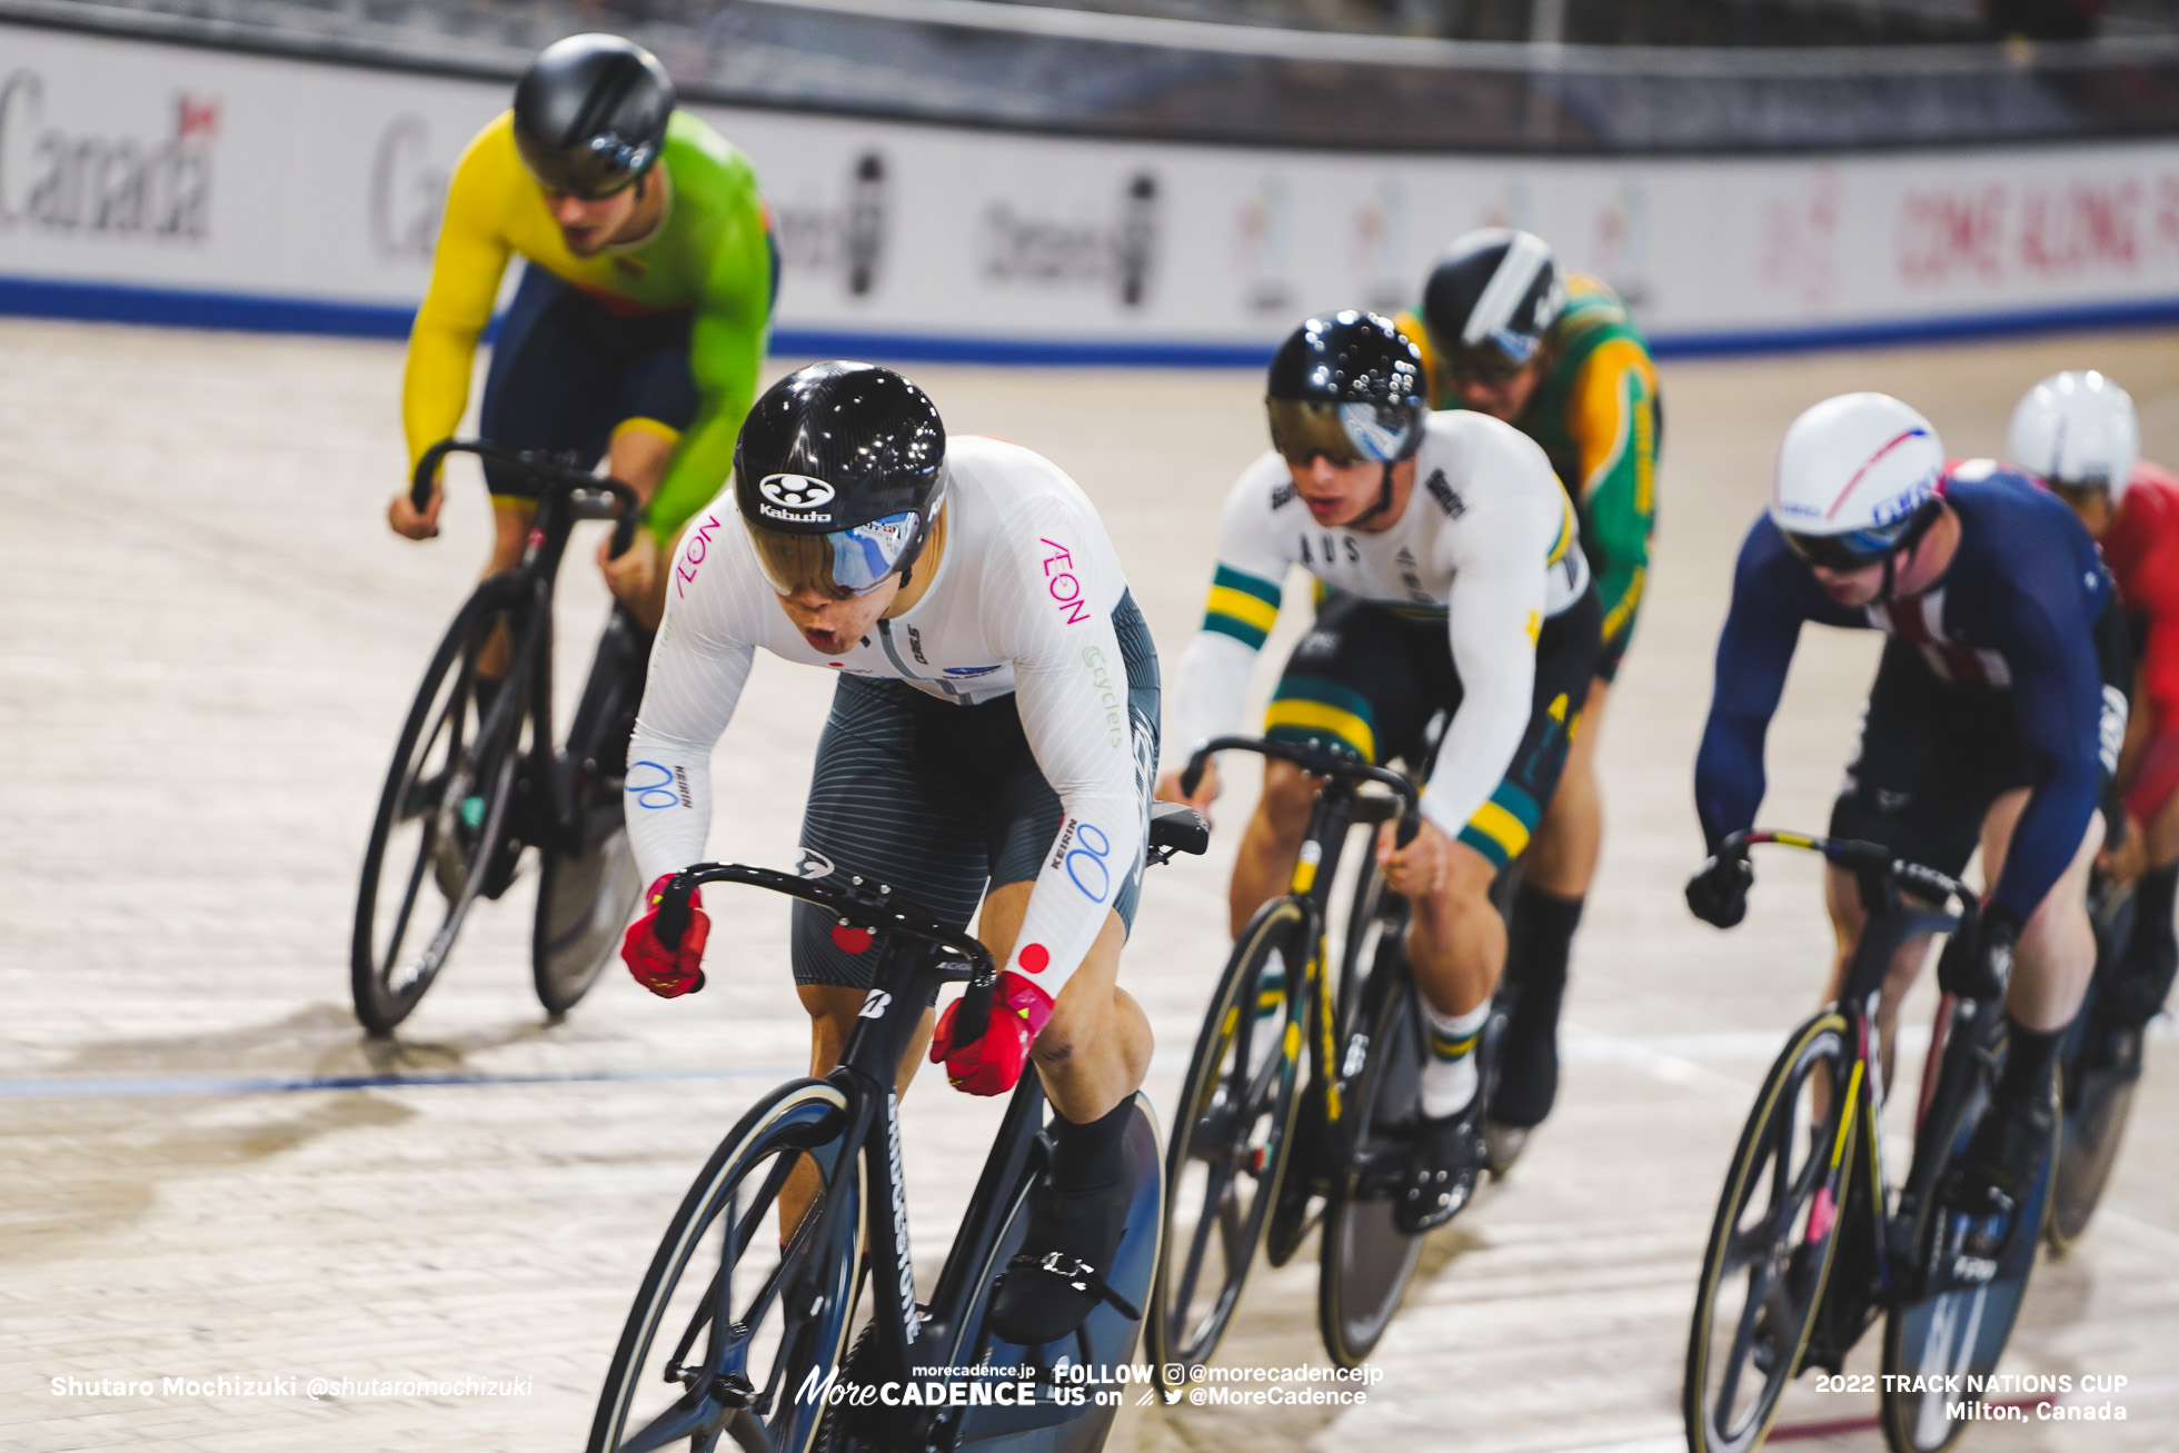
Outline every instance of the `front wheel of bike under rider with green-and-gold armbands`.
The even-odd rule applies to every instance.
[[[1151,1362],[1209,1362],[1255,1263],[1292,1144],[1310,921],[1281,898],[1242,930],[1188,1061],[1166,1157],[1166,1231],[1151,1296]],[[1264,985],[1273,954],[1283,982]]]

